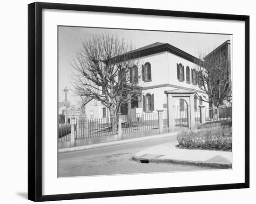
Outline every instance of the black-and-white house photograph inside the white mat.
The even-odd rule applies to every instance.
[[[232,169],[232,39],[58,26],[58,177]]]

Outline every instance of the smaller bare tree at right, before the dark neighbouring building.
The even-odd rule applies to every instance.
[[[198,99],[208,102],[212,106],[214,118],[219,117],[219,106],[224,100],[231,99],[231,65],[228,54],[223,57],[223,52],[212,52],[207,58],[199,52],[199,59],[195,60],[197,65],[197,84],[206,92],[207,97],[200,96]],[[204,60],[205,59],[205,60]],[[215,111],[216,110],[216,111]]]

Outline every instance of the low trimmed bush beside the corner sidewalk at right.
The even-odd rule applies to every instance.
[[[179,148],[232,151],[232,128],[209,125],[199,131],[183,131],[177,140]]]

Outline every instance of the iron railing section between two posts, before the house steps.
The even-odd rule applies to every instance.
[[[159,129],[158,113],[136,114],[134,118],[122,115],[121,127],[123,134]]]

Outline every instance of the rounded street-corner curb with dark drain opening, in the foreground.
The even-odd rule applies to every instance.
[[[214,163],[214,162],[203,162],[203,161],[191,161],[191,160],[178,160],[178,159],[155,159],[155,158],[142,158],[136,155],[132,156],[132,159],[141,163],[171,163],[180,165],[195,165],[203,167],[214,167],[218,169],[231,169],[231,163]]]

